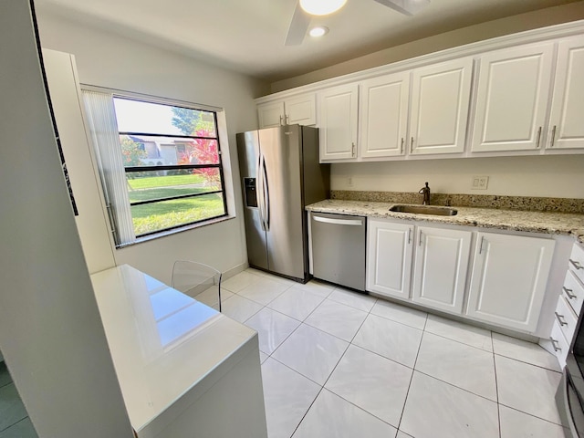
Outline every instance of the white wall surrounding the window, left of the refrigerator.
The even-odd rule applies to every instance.
[[[81,83],[225,110],[237,208],[231,213],[236,213],[237,217],[116,250],[116,263],[130,264],[165,282],[170,282],[172,263],[176,259],[202,261],[222,271],[245,265],[247,255],[235,133],[256,129],[254,97],[262,94],[266,84],[112,32],[78,26],[43,9],[37,16],[42,46],[73,54]],[[222,148],[226,147],[222,144]],[[230,177],[229,172],[226,176]]]

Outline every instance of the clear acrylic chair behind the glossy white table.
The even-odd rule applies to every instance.
[[[213,266],[188,260],[174,262],[172,287],[221,312],[221,272]]]

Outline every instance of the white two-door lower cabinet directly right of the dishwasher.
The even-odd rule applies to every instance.
[[[370,219],[367,290],[460,315],[471,240],[468,231]]]

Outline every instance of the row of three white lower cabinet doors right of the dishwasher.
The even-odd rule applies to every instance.
[[[552,238],[531,235],[369,219],[366,289],[536,333],[555,245]]]

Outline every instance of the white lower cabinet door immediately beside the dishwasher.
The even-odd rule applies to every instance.
[[[410,297],[413,225],[369,220],[367,290],[388,297]]]

